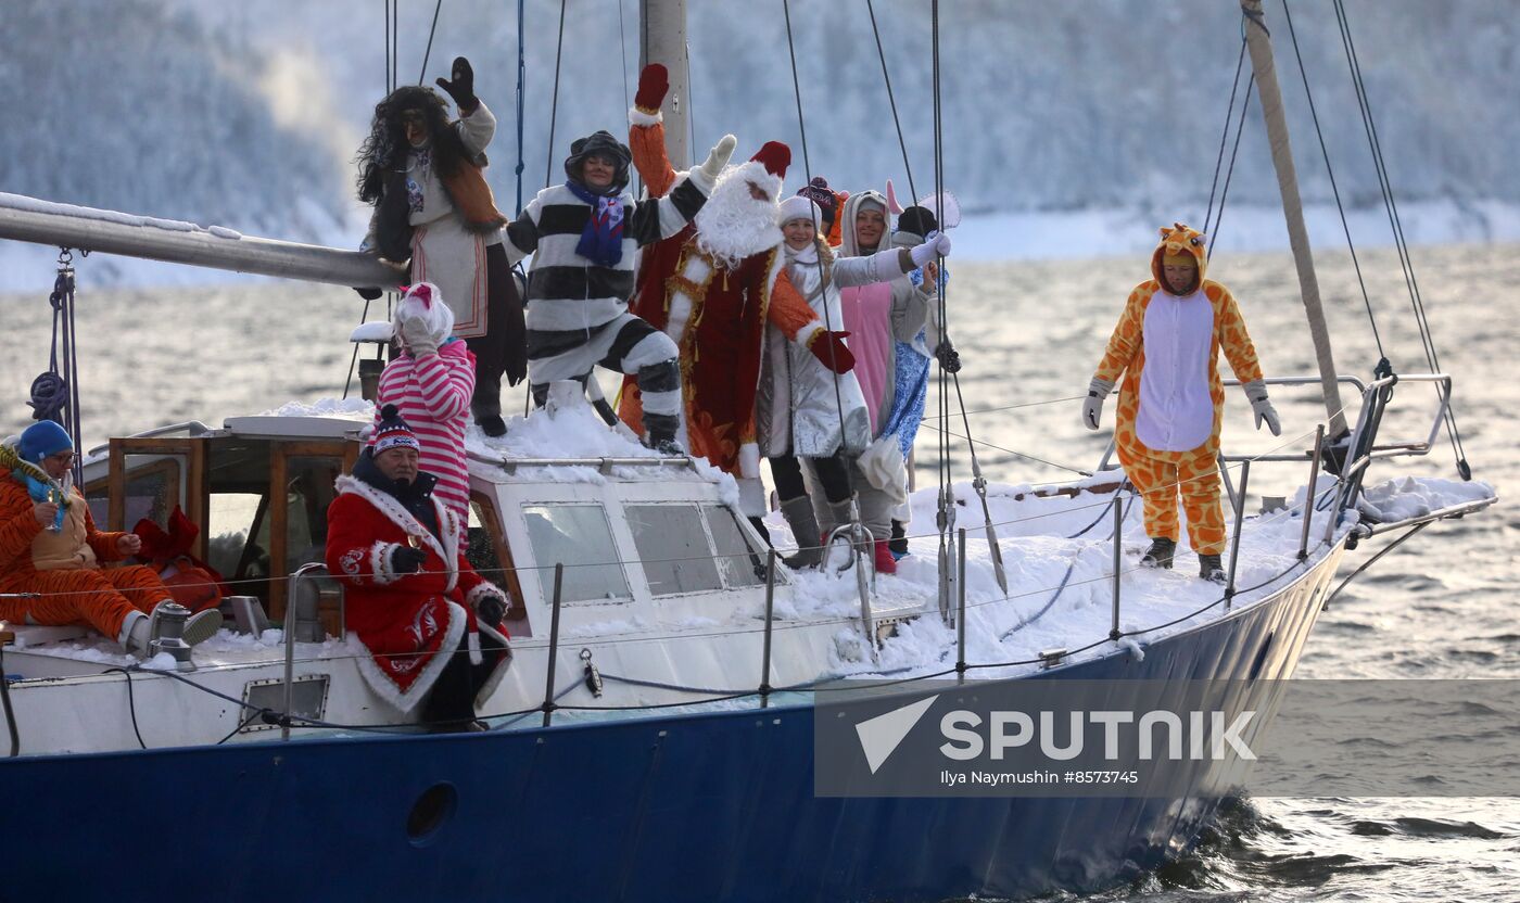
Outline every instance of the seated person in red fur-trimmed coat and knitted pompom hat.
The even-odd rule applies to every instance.
[[[439,730],[483,730],[476,705],[511,660],[506,593],[459,553],[465,529],[418,470],[418,441],[394,404],[327,509],[327,567],[347,588],[348,626],[369,686]]]

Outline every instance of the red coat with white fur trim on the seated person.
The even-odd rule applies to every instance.
[[[432,502],[442,543],[394,496],[351,476],[337,477],[337,499],[327,509],[327,567],[345,585],[348,628],[372,655],[359,660],[359,670],[401,711],[412,711],[444,670],[448,658],[439,652],[458,649],[467,634],[474,664],[479,631],[506,645],[506,634],[479,623],[474,611],[480,597],[506,594],[470,567],[459,553],[459,518],[442,500]],[[395,573],[391,552],[407,537],[421,538],[427,559],[416,573]],[[476,704],[491,695],[509,660],[500,655]]]

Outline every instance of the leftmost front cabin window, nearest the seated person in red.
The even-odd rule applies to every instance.
[[[632,597],[600,505],[523,505],[523,520],[544,599],[553,599],[555,564],[565,566],[561,602]]]

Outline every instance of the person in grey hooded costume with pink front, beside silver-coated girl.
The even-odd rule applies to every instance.
[[[839,258],[874,255],[888,249],[888,202],[879,192],[851,195],[839,213]],[[923,254],[920,254],[923,249]],[[898,348],[912,345],[929,322],[930,307],[938,296],[939,268],[935,257],[950,254],[950,237],[944,233],[926,236],[910,254],[912,266],[904,266],[891,281],[841,289],[844,330],[853,336],[850,348],[856,356],[856,379],[865,394],[871,417],[871,447],[851,465],[851,482],[860,509],[860,523],[871,532],[872,556],[879,573],[897,573],[892,556],[892,511],[907,499],[907,470],[898,433],[903,424],[897,409]],[[923,271],[915,284],[914,269]],[[810,482],[818,483],[818,473]],[[818,523],[827,534],[839,520],[827,505],[815,497]]]

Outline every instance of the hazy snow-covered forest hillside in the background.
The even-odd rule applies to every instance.
[[[546,157],[559,2],[529,0],[523,185],[532,195],[570,138],[625,128],[637,78],[637,0],[567,0]],[[433,3],[400,3],[400,70],[421,67]],[[914,179],[932,181],[927,0],[876,0]],[[1389,175],[1401,204],[1439,202],[1467,228],[1503,233],[1520,205],[1515,85],[1520,3],[1347,2]],[[689,0],[693,131],[748,154],[768,138],[804,160],[780,0]],[[1228,0],[952,0],[941,5],[944,170],[970,210],[1201,213],[1240,49]],[[220,223],[249,234],[357,242],[351,157],[383,94],[380,0],[11,0],[0,17],[0,190]],[[1292,3],[1342,196],[1379,202],[1333,9]],[[1306,201],[1328,202],[1283,2],[1268,0]],[[845,189],[904,185],[865,0],[800,0],[792,24],[807,163]],[[470,56],[502,128],[489,178],[517,199],[515,5],[444,0],[427,82]],[[1249,70],[1249,61],[1246,62]],[[1242,90],[1245,79],[1242,78]],[[1231,204],[1277,204],[1256,109]],[[553,163],[549,163],[552,160]],[[1061,220],[1059,217],[1066,217]],[[1078,219],[1076,222],[1084,222]],[[1512,219],[1508,220],[1512,223]],[[1082,236],[1070,240],[1082,242]],[[1102,249],[1100,237],[1093,237]]]

